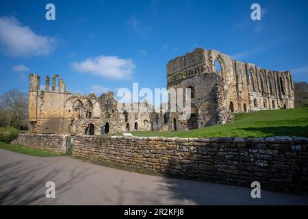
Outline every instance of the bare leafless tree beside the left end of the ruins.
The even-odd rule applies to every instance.
[[[6,123],[18,128],[27,127],[28,97],[18,89],[9,90],[0,95],[1,113]],[[3,117],[2,115],[2,117]]]

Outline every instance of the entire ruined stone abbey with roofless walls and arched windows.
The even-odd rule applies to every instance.
[[[58,83],[56,86],[56,79]],[[294,107],[290,71],[279,72],[238,62],[218,51],[195,49],[167,64],[167,89],[190,88],[191,116],[179,120],[179,112],[155,112],[153,105],[142,112],[118,110],[113,92],[84,96],[72,94],[54,75],[44,90],[40,77],[30,75],[30,133],[101,134],[127,131],[187,131],[231,120],[231,112],[253,112]],[[183,94],[185,95],[185,94]],[[184,98],[185,99],[185,98]],[[124,108],[123,108],[124,109]]]

